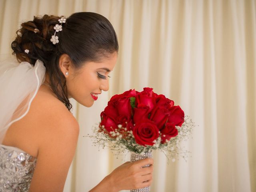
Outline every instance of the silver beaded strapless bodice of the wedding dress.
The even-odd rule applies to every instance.
[[[36,158],[0,144],[0,192],[28,192]]]

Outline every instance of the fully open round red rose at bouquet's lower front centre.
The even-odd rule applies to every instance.
[[[149,119],[144,119],[141,122],[135,124],[133,129],[133,135],[136,142],[140,145],[153,145],[154,140],[159,136],[158,128],[156,124]]]

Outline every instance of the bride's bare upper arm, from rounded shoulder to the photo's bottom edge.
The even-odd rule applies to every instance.
[[[70,112],[58,111],[48,114],[38,126],[43,131],[29,191],[62,192],[76,150],[78,123]]]

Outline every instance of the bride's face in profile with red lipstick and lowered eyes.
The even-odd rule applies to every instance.
[[[86,62],[79,69],[71,68],[66,76],[68,97],[86,107],[92,106],[102,90],[108,90],[108,74],[113,70],[116,60],[117,53],[114,52],[100,62]]]

